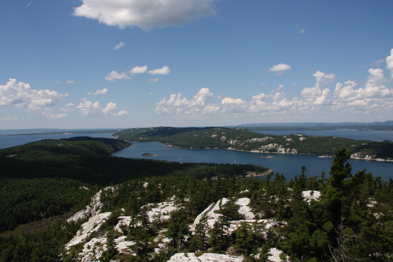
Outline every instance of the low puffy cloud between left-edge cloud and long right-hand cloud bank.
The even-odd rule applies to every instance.
[[[76,108],[81,109],[82,116],[124,116],[129,113],[125,110],[118,111],[116,103],[108,103],[106,107],[100,107],[99,102],[91,102],[86,99],[79,103]]]

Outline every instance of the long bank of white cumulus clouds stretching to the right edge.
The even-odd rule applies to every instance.
[[[389,64],[389,59],[392,59],[391,57],[393,57],[392,54],[387,57],[387,64]],[[390,67],[387,69],[390,70]],[[315,85],[304,87],[298,97],[288,97],[281,91],[283,85],[279,85],[276,90],[255,94],[249,100],[220,94],[217,97],[220,101],[211,103],[211,100],[207,100],[213,96],[211,91],[201,89],[192,100],[183,98],[180,93],[172,94],[168,100],[163,98],[156,104],[156,113],[176,114],[195,119],[207,114],[223,118],[238,118],[255,114],[264,118],[269,115],[277,116],[277,114],[281,117],[285,116],[280,121],[291,121],[307,114],[310,117],[334,115],[334,118],[329,120],[334,121],[336,117],[341,116],[345,119],[348,115],[357,115],[358,118],[364,114],[390,117],[393,111],[393,89],[387,87],[392,81],[386,79],[383,69],[370,68],[364,84],[353,80],[334,83],[337,80],[334,73],[326,74],[316,71],[312,76],[315,77]],[[334,83],[332,87],[329,87],[332,83]],[[298,84],[294,83],[291,86],[296,85]],[[203,94],[211,95],[204,96]],[[196,103],[198,99],[203,103]]]

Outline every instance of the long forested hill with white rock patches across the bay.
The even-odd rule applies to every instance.
[[[345,147],[351,157],[393,160],[393,142],[340,137],[264,135],[242,127],[150,127],[119,131],[113,135],[129,141],[156,141],[180,148],[227,148],[250,152],[334,155]]]

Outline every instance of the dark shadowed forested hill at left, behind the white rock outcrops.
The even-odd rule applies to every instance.
[[[109,156],[129,145],[113,138],[75,137],[0,149],[0,232],[81,208],[92,194],[81,190],[83,186],[97,190],[111,183],[167,174],[202,179],[267,171],[251,164],[181,164]]]

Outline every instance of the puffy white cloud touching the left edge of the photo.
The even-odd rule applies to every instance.
[[[6,85],[0,85],[0,106],[11,105],[26,109],[34,107],[50,107],[57,104],[68,94],[59,94],[49,89],[31,89],[29,84],[10,78]]]

